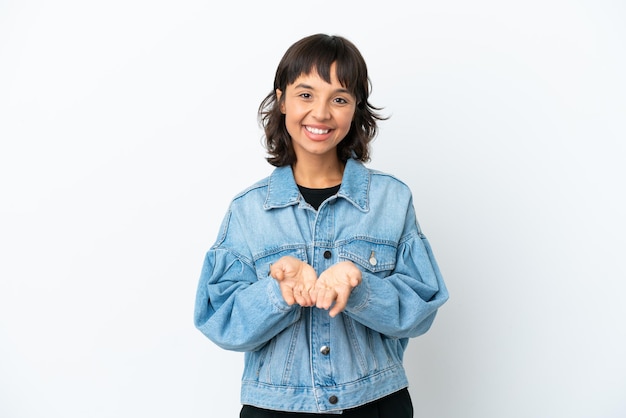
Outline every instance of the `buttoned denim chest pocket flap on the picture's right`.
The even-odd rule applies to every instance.
[[[354,239],[339,247],[339,257],[364,270],[385,277],[396,266],[396,246],[365,239]]]

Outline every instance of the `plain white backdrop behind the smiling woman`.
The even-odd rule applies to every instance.
[[[626,4],[0,2],[0,417],[235,417],[193,327],[285,49],[365,56],[451,299],[416,417],[626,416]]]

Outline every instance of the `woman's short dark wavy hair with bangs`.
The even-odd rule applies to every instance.
[[[296,161],[291,137],[285,126],[285,115],[280,106],[285,98],[276,96],[276,89],[286,91],[301,75],[312,71],[330,83],[330,68],[336,64],[337,78],[341,85],[356,98],[356,109],[350,130],[337,145],[341,161],[355,158],[362,162],[370,160],[369,144],[378,132],[377,121],[385,120],[378,112],[381,108],[368,101],[371,83],[367,65],[356,46],[341,36],[315,34],[300,39],[283,55],[276,75],[274,88],[259,106],[259,124],[265,132],[267,161],[276,167],[291,165]]]

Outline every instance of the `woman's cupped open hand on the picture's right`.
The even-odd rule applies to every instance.
[[[361,284],[361,270],[351,261],[342,261],[328,268],[315,282],[311,298],[315,306],[328,310],[335,317],[348,303],[352,289]]]

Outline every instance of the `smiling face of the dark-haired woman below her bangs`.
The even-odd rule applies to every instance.
[[[335,64],[330,68],[330,83],[316,71],[302,74],[285,91],[281,112],[298,161],[337,159],[337,145],[350,131],[356,98],[337,80]]]

